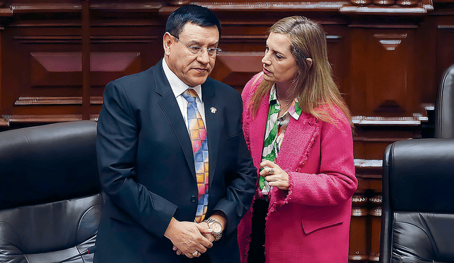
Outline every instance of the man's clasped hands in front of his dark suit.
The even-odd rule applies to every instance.
[[[172,241],[173,250],[176,250],[177,254],[192,258],[198,257],[206,252],[206,249],[213,247],[212,233],[213,230],[209,229],[205,222],[180,222],[172,218],[164,235]]]

